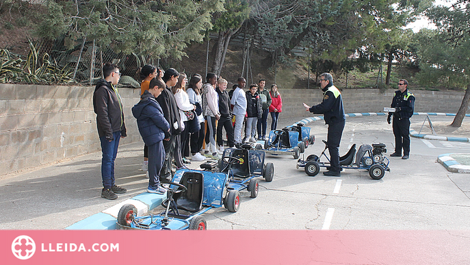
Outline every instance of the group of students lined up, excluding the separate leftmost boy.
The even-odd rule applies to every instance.
[[[172,162],[181,169],[191,164],[190,157],[193,161],[204,161],[207,157],[219,159],[224,151],[223,129],[228,147],[265,140],[268,113],[272,115],[271,129],[276,129],[278,115],[282,112],[276,84],[267,91],[265,79],[251,84],[245,92],[246,80],[239,77],[237,84],[227,92],[228,81],[214,73],[207,73],[204,84],[199,74],[192,75],[188,82],[185,73],[173,68],[162,71],[147,64],[140,69],[140,77],[142,96],[133,108],[133,115],[138,119],[140,134],[146,143],[142,170],[147,171],[149,177],[148,192],[165,192],[158,182],[172,175]],[[159,90],[167,90],[167,93]],[[149,126],[151,123],[153,126]],[[151,136],[154,131],[161,131],[164,138],[146,140],[156,138]],[[157,140],[163,143],[155,146]],[[162,153],[165,155],[161,156]]]

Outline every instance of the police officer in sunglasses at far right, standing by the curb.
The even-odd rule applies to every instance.
[[[395,135],[395,153],[390,156],[403,156],[402,159],[410,157],[410,118],[415,110],[415,96],[408,91],[408,81],[400,79],[398,82],[398,90],[395,91],[391,108],[395,108],[395,112],[389,112],[387,122],[391,123],[393,116],[393,134]]]

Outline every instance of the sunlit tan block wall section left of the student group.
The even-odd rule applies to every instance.
[[[131,107],[140,90],[120,88],[128,136],[140,140]],[[94,87],[0,84],[0,175],[101,149]]]

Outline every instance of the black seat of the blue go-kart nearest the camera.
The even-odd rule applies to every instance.
[[[187,188],[185,192],[173,194],[178,209],[198,212],[203,209],[204,177],[197,172],[185,172],[179,183]]]

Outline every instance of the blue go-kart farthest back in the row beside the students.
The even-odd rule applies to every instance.
[[[285,155],[292,153],[298,159],[309,144],[315,143],[315,136],[310,135],[310,127],[303,123],[287,126],[283,129],[270,131],[270,136],[264,142],[264,151],[272,155]]]

